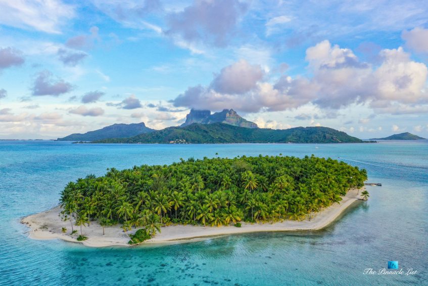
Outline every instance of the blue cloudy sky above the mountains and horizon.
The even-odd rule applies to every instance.
[[[428,138],[428,2],[0,0],[0,139],[234,109]]]

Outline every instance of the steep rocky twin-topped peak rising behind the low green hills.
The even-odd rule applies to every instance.
[[[223,111],[216,112],[213,114],[211,114],[210,110],[192,109],[190,113],[186,115],[186,121],[181,125],[181,127],[188,126],[194,123],[224,123],[239,127],[257,128],[257,124],[242,118],[233,109],[223,109]]]

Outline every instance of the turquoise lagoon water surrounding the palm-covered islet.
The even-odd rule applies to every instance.
[[[315,147],[318,148],[315,148]],[[322,231],[91,249],[32,240],[20,218],[57,205],[70,180],[180,157],[269,154],[338,158],[365,168],[370,199]],[[0,284],[428,284],[428,142],[379,144],[91,145],[0,141]],[[415,275],[364,275],[389,260]]]

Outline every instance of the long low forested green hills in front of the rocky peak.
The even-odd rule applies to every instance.
[[[112,138],[92,143],[362,143],[345,132],[327,127],[297,127],[285,130],[245,128],[223,123],[194,123],[169,127],[131,138]]]

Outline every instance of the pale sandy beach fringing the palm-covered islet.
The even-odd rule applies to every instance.
[[[200,240],[204,237],[219,236],[226,234],[236,233],[249,233],[249,232],[262,232],[262,231],[296,231],[296,230],[317,230],[326,227],[333,222],[339,215],[346,210],[351,204],[360,199],[358,190],[350,190],[343,196],[343,200],[339,203],[316,213],[311,221],[293,221],[286,220],[283,222],[270,223],[242,223],[242,227],[235,226],[221,226],[221,227],[203,227],[193,225],[171,225],[162,227],[161,233],[156,234],[153,238],[144,242],[147,243],[165,243],[177,241]],[[79,242],[76,240],[80,234],[80,228],[73,226],[78,232],[70,236],[71,224],[69,221],[64,222],[61,220],[60,207],[56,207],[46,212],[30,215],[21,220],[21,223],[26,224],[30,230],[28,231],[29,237],[33,239],[63,239],[70,242]],[[67,233],[62,233],[62,227],[67,228]],[[88,237],[87,240],[82,241],[88,247],[108,247],[108,246],[128,246],[128,236],[123,232],[119,226],[112,226],[105,228],[105,235],[103,229],[97,222],[91,222],[90,226],[82,228],[83,234]],[[134,233],[135,229],[132,228],[128,233]]]

